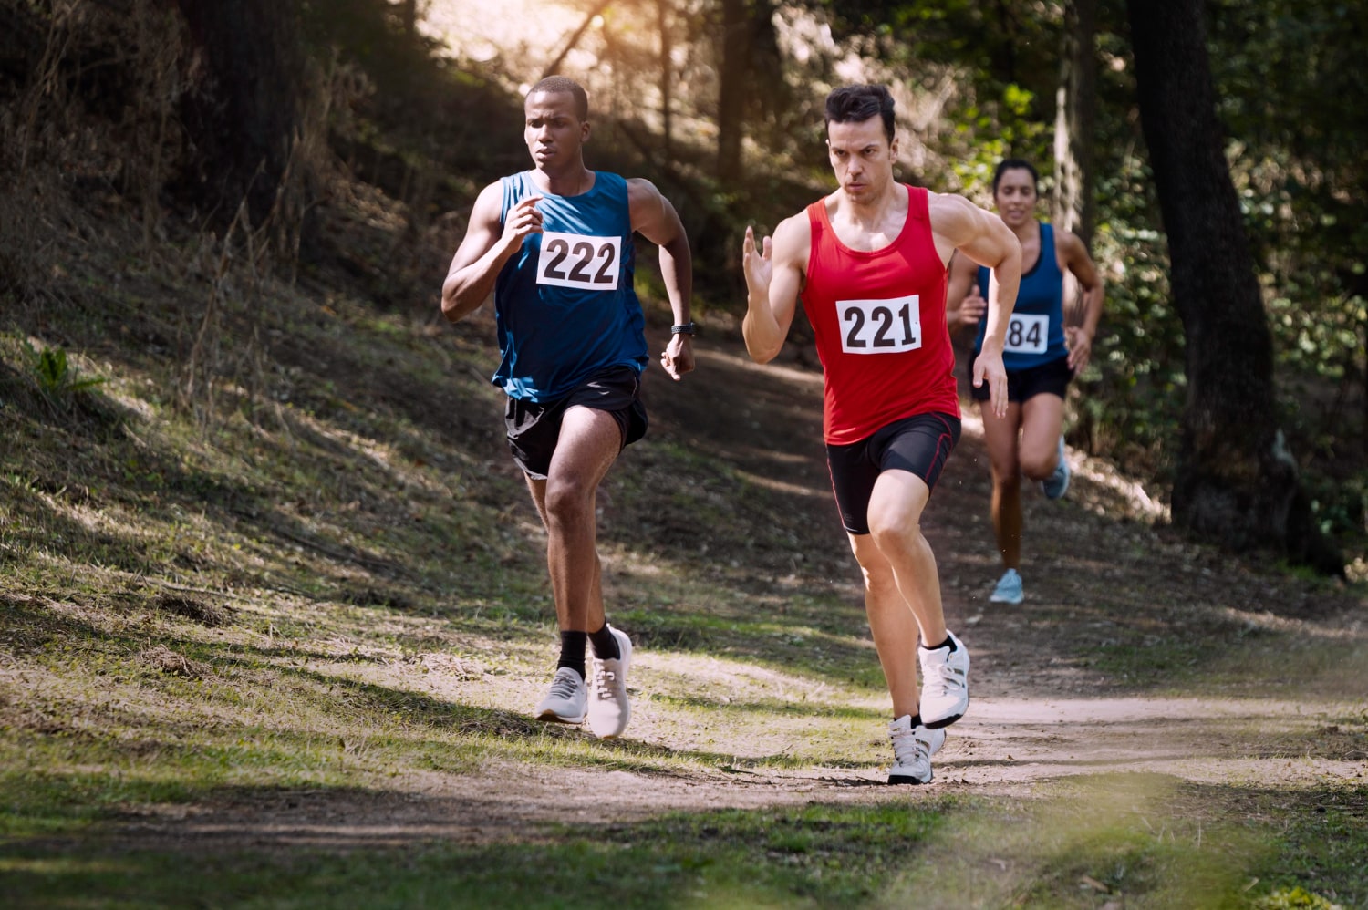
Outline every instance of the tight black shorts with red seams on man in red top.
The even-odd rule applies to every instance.
[[[896,420],[860,442],[828,445],[826,467],[841,525],[851,534],[869,534],[869,498],[884,471],[911,471],[934,490],[956,442],[959,417],[923,413]]]

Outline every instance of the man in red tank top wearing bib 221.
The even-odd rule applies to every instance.
[[[921,531],[922,509],[959,439],[945,265],[959,249],[993,270],[973,382],[988,385],[1001,412],[1021,245],[996,215],[963,197],[893,179],[897,140],[886,88],[832,92],[826,144],[836,192],[784,219],[759,249],[746,230],[741,330],[751,357],[769,363],[802,297],[825,374],[832,489],[865,575],[865,610],[893,701],[888,783],[925,784],[943,728],[969,707],[969,651],[945,628],[936,557]]]

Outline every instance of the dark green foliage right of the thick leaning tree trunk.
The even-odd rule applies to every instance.
[[[1368,4],[1215,4],[1212,71],[1227,156],[1260,261],[1285,427],[1321,525],[1361,534]]]

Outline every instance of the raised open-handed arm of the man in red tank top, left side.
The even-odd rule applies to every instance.
[[[751,360],[767,364],[784,348],[798,294],[807,274],[807,253],[811,245],[811,226],[803,213],[785,218],[766,237],[759,248],[755,233],[747,227],[741,245],[741,267],[746,271],[746,317],[741,335]]]

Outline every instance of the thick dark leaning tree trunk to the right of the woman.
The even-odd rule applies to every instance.
[[[1174,521],[1343,573],[1275,417],[1272,338],[1223,153],[1202,0],[1129,0],[1140,115],[1186,335]]]

